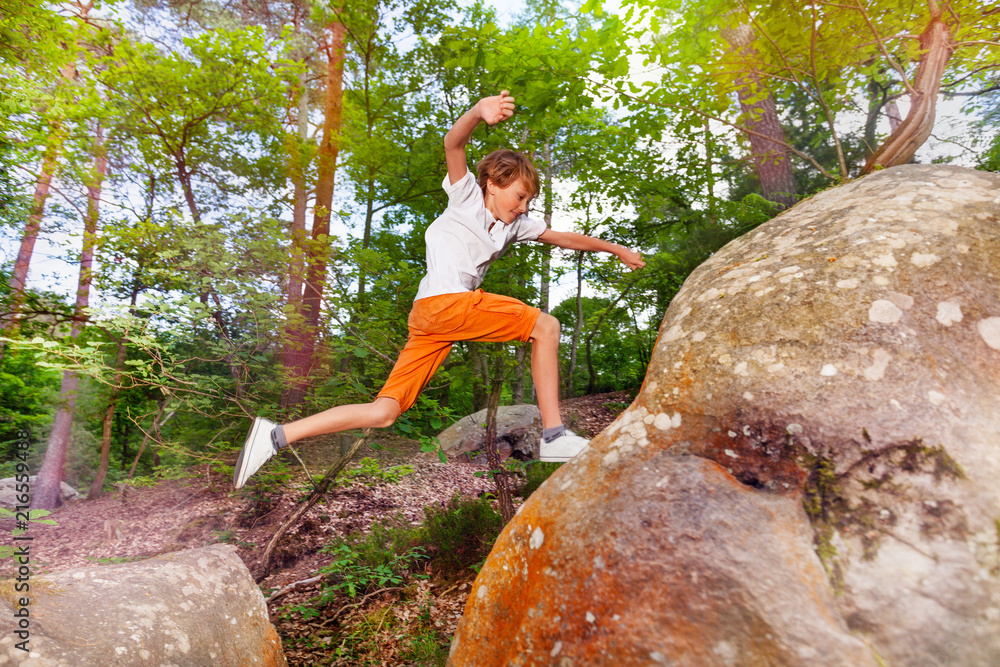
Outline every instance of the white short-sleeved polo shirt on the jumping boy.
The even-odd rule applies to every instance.
[[[448,208],[424,234],[427,275],[417,288],[417,299],[477,289],[490,264],[503,255],[507,246],[534,241],[545,231],[544,221],[525,215],[509,225],[494,218],[471,171],[466,171],[454,185],[445,176],[443,187],[448,193]]]

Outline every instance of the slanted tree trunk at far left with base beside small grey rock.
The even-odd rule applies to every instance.
[[[83,224],[83,248],[80,251],[80,276],[77,279],[76,305],[73,309],[73,327],[70,338],[75,340],[87,317],[90,304],[90,283],[94,264],[94,246],[97,243],[97,221],[100,212],[101,188],[108,171],[104,134],[100,125],[94,143],[94,172],[87,183],[87,217]],[[38,471],[32,507],[54,509],[59,503],[59,489],[62,485],[66,457],[69,453],[69,437],[76,409],[76,392],[79,379],[76,373],[64,371],[59,387],[59,409],[56,411],[49,444],[45,448],[45,459]]]

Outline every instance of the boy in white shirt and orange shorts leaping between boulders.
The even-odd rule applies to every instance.
[[[406,346],[371,403],[339,405],[284,425],[257,417],[236,461],[238,489],[275,453],[302,438],[392,425],[417,400],[452,343],[531,341],[531,377],[542,415],[542,461],[568,461],[588,441],[563,426],[559,413],[559,320],[517,299],[479,289],[486,270],[511,243],[541,241],[569,250],[603,251],[626,266],[645,266],[636,252],[583,234],[547,229],[525,215],[538,194],[538,173],[527,156],[509,150],[466,164],[465,145],[480,121],[495,125],[514,115],[507,91],[486,97],[444,138],[448,208],[427,228],[427,275],[420,281],[407,325]],[[500,223],[500,224],[497,224]]]

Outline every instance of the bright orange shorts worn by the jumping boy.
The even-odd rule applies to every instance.
[[[379,398],[396,399],[400,412],[406,412],[444,363],[452,343],[527,341],[541,312],[513,297],[481,289],[414,301],[407,321],[410,336]]]

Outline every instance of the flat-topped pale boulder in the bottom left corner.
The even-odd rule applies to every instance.
[[[2,663],[30,655],[32,667],[287,664],[260,589],[231,545],[36,575],[28,584],[26,593],[0,589]],[[14,606],[22,596],[23,609]]]

